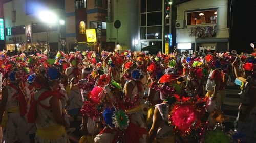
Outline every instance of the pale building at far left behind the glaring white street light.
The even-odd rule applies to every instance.
[[[60,1],[13,0],[4,3],[6,49],[16,52],[40,50],[61,50],[59,20],[64,17],[64,7]],[[55,23],[47,25],[40,19],[41,11],[51,11],[57,15]],[[47,36],[47,27],[49,35]],[[48,38],[47,38],[48,37]]]

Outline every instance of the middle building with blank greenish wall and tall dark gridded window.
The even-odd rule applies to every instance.
[[[120,45],[120,50],[140,51],[155,46],[162,50],[162,1],[124,0],[111,2],[111,21],[108,22],[108,43]],[[166,4],[166,7],[169,5]],[[118,23],[120,22],[120,27]],[[170,33],[169,18],[164,18],[164,38]]]

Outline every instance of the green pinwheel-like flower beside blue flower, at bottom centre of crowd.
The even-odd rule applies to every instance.
[[[126,129],[129,125],[129,118],[122,110],[116,110],[112,116],[113,124],[120,130]]]

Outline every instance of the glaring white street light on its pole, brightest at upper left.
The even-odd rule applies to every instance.
[[[47,23],[47,57],[49,58],[49,26],[57,22],[57,16],[51,11],[42,11],[39,13],[39,17],[43,22]]]

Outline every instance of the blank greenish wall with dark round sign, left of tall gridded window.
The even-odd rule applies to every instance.
[[[111,1],[113,17],[107,23],[107,42],[118,42],[121,50],[131,49],[140,50],[140,44],[135,45],[134,41],[139,40],[139,4],[138,0]],[[119,20],[119,29],[114,27],[114,22]]]

